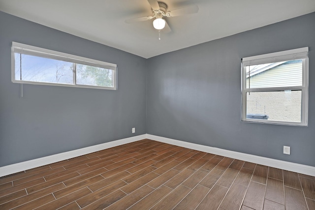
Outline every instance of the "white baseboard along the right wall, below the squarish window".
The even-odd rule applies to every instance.
[[[157,140],[164,143],[186,147],[189,149],[195,149],[202,152],[212,153],[212,154],[221,155],[221,156],[243,160],[243,161],[248,161],[248,162],[261,164],[261,165],[269,166],[269,167],[274,167],[278,169],[283,169],[283,170],[296,172],[300,174],[315,176],[315,167],[312,167],[312,166],[291,163],[291,162],[286,162],[282,160],[276,160],[276,159],[266,158],[266,157],[261,157],[261,156],[256,156],[256,155],[250,155],[246,153],[235,152],[235,151],[200,145],[196,143],[190,143],[190,142],[181,141],[181,140],[173,140],[173,139],[154,136],[150,134],[147,134],[147,139]]]

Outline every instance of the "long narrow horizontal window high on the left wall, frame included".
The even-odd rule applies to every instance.
[[[117,89],[117,65],[12,42],[12,82]]]

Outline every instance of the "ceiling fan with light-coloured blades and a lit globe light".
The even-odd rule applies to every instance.
[[[167,4],[162,1],[148,0],[148,2],[151,5],[151,10],[153,13],[152,16],[144,16],[144,17],[139,17],[139,18],[127,19],[125,20],[125,22],[134,23],[134,22],[139,22],[139,21],[152,20],[155,18],[155,20],[153,21],[153,27],[159,31],[163,30],[163,32],[169,33],[171,32],[171,29],[169,28],[164,17],[175,17],[175,16],[180,16],[180,15],[197,13],[199,10],[197,5],[191,5],[191,6],[167,11]]]

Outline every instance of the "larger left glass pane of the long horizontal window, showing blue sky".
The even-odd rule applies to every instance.
[[[73,64],[32,55],[15,54],[15,79],[73,84]]]

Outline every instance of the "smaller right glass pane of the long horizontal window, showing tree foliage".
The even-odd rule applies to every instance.
[[[76,83],[79,85],[114,87],[113,70],[77,64]]]

